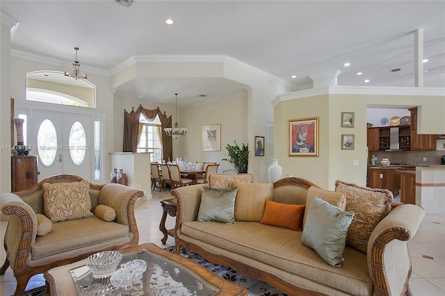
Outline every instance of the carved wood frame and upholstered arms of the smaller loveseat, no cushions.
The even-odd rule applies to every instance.
[[[124,249],[138,245],[139,233],[134,217],[134,204],[138,197],[143,197],[143,191],[120,184],[96,185],[90,183],[89,193],[92,213],[99,204],[115,208],[116,218],[113,222],[108,223],[126,225],[128,227],[128,237],[115,238],[108,242],[100,242],[97,245],[86,245],[86,247],[79,247],[69,252],[52,254],[47,256],[42,264],[36,264],[37,261],[33,261],[31,248],[37,238],[36,214],[44,214],[42,184],[72,183],[82,180],[79,176],[60,174],[44,179],[29,190],[2,193],[1,211],[3,214],[9,215],[9,222],[3,242],[7,254],[6,261],[0,269],[0,274],[5,274],[9,266],[13,269],[17,280],[14,295],[22,295],[29,279],[35,274],[41,274],[56,266],[82,260],[99,251]],[[55,224],[63,222],[55,222]]]

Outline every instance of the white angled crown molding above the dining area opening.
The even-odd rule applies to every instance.
[[[241,60],[236,60],[236,58],[232,58],[230,56],[225,55],[162,55],[162,54],[150,54],[150,55],[138,55],[131,56],[124,60],[122,63],[119,63],[113,69],[111,69],[111,75],[117,74],[118,72],[126,69],[127,67],[134,65],[136,63],[226,63],[228,65],[234,65],[235,67],[244,69],[250,73],[254,73],[259,76],[263,76],[266,79],[270,79],[279,83],[281,85],[285,85],[287,88],[295,89],[297,85],[293,83],[289,83],[289,81],[285,81],[284,79],[280,79],[277,76],[274,76],[268,72],[264,72],[261,69],[248,65],[246,63],[241,62]]]

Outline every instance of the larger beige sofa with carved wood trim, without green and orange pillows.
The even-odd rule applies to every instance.
[[[423,219],[424,212],[419,206],[392,204],[391,207],[388,203],[389,199],[392,202],[391,192],[341,182],[336,183],[337,192],[323,190],[300,178],[279,180],[273,183],[273,188],[272,184],[259,183],[235,182],[231,185],[238,186],[234,210],[236,222],[233,224],[197,221],[202,185],[172,190],[172,195],[178,200],[177,252],[181,247],[195,252],[213,263],[234,268],[246,277],[266,281],[288,295],[410,295],[411,261],[407,241],[414,236]],[[243,203],[238,199],[246,198],[250,200],[247,208],[250,207],[248,211],[251,213],[254,213],[252,204],[262,207],[259,200],[271,199],[280,204],[306,205],[306,218],[307,206],[314,196],[327,202],[332,202],[332,197],[339,197],[337,201],[341,202],[337,202],[337,206],[346,208],[346,211],[348,202],[350,206],[357,206],[356,199],[364,198],[365,202],[359,202],[358,206],[365,204],[372,208],[377,205],[383,210],[389,206],[389,213],[378,220],[375,220],[378,213],[371,214],[370,220],[375,220],[369,222],[375,223],[371,227],[366,225],[369,217],[357,209],[355,225],[350,224],[352,234],[348,231],[341,267],[328,264],[314,249],[303,245],[302,231],[236,219],[237,215],[245,215],[240,211],[246,211],[246,205],[243,206],[245,209],[241,209]],[[381,198],[386,202],[379,202]],[[359,250],[360,244],[357,245],[350,237],[361,228],[369,227],[369,237],[364,238],[367,249],[363,252]]]

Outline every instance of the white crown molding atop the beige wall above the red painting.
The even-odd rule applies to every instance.
[[[445,97],[445,88],[416,88],[416,87],[397,87],[397,86],[327,86],[324,88],[312,88],[310,90],[300,90],[279,94],[272,101],[273,107],[282,101],[293,99],[304,99],[307,97],[316,97],[325,94],[369,94],[369,95],[387,95],[387,96],[428,96]]]

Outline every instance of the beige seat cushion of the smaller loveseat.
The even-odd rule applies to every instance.
[[[31,247],[33,260],[98,244],[122,245],[131,240],[127,225],[106,222],[94,215],[53,225],[53,231],[35,238]]]

